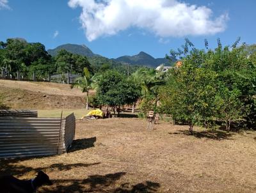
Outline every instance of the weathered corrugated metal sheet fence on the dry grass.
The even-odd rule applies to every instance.
[[[0,117],[0,158],[56,155],[67,152],[76,118]]]

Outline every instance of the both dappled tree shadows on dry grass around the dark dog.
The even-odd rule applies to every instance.
[[[6,160],[5,160],[6,161]],[[17,178],[20,176],[24,176],[30,172],[36,171],[44,171],[45,173],[49,173],[50,171],[67,171],[73,169],[74,167],[90,167],[95,166],[97,163],[92,164],[52,164],[47,167],[25,167],[25,166],[17,166],[16,162],[19,160],[8,160],[1,161],[1,169],[0,176],[2,175],[14,175]],[[38,189],[38,192],[69,192],[69,193],[77,193],[77,192],[109,192],[109,193],[135,193],[135,192],[158,192],[157,190],[160,187],[159,183],[154,183],[152,181],[145,181],[138,183],[136,185],[132,185],[130,183],[120,183],[118,180],[124,176],[124,172],[111,173],[105,175],[91,175],[84,180],[80,179],[65,179],[65,180],[54,180],[52,186],[44,186]],[[60,177],[61,178],[61,177]]]

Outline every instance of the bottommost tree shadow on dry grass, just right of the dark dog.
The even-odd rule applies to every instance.
[[[129,183],[118,183],[124,176],[124,172],[92,175],[84,180],[52,180],[52,187],[43,187],[43,192],[109,192],[109,193],[135,193],[135,192],[157,192],[160,184],[145,181],[136,185]]]

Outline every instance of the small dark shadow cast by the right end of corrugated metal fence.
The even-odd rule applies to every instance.
[[[91,137],[87,139],[76,139],[72,142],[71,148],[68,152],[74,152],[78,150],[84,150],[87,148],[94,147],[94,143],[96,142],[96,137]]]

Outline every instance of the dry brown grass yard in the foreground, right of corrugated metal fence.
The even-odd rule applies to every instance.
[[[0,174],[54,182],[38,192],[256,192],[256,132],[207,132],[138,118],[78,120],[64,155],[0,161]]]

